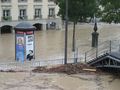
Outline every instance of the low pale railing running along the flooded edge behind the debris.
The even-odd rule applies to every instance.
[[[80,62],[80,58],[77,58],[77,62]],[[67,63],[75,63],[75,58],[68,58]],[[8,71],[28,71],[38,66],[49,66],[49,65],[59,65],[64,64],[64,59],[55,59],[55,60],[40,60],[40,61],[26,61],[21,62],[10,62],[10,63],[0,63],[0,70]]]

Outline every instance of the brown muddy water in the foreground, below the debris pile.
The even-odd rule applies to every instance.
[[[0,90],[120,90],[111,75],[0,72]]]

